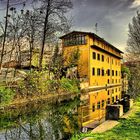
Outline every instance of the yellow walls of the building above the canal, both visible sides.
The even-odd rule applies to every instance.
[[[121,56],[117,51],[107,46],[102,41],[94,39],[93,37],[86,35],[86,45],[77,46],[63,46],[63,52],[66,60],[71,57],[71,53],[79,49],[80,59],[78,63],[78,72],[81,78],[87,78],[90,86],[105,86],[106,84],[120,84],[121,83],[121,64],[120,58],[114,57],[101,50],[97,50],[92,45],[96,45],[99,48],[105,49],[108,52]],[[100,60],[92,58],[92,53],[96,55],[100,54]],[[102,55],[104,56],[104,62],[101,61]],[[109,61],[109,62],[108,62]],[[113,63],[112,63],[113,61]],[[95,75],[92,75],[92,68],[95,68]],[[100,68],[100,76],[97,76],[97,68]],[[104,69],[104,76],[101,75],[101,70]],[[110,76],[107,75],[107,70],[110,69]],[[114,76],[112,76],[112,70],[114,70]],[[117,71],[117,76],[116,76]],[[108,83],[109,80],[109,83]]]

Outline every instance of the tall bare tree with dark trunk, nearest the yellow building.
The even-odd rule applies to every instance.
[[[41,6],[38,9],[44,18],[39,56],[39,70],[42,70],[45,43],[51,35],[63,30],[62,28],[65,27],[64,25],[67,21],[65,13],[69,8],[72,8],[70,0],[41,0]]]

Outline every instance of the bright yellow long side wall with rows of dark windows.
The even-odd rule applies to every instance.
[[[101,41],[93,40],[93,44],[99,48],[108,50],[115,55],[117,52],[113,52],[112,49],[103,44]],[[92,58],[93,52],[96,53],[96,59]],[[100,60],[97,60],[97,54],[100,55]],[[104,61],[102,61],[102,55],[104,56]],[[90,86],[105,86],[106,84],[120,84],[121,83],[121,64],[120,59],[107,54],[104,51],[97,50],[94,47],[90,47]],[[92,68],[95,68],[95,75],[92,75]],[[100,69],[100,76],[97,75],[97,69]],[[104,70],[104,76],[102,76],[102,69]],[[107,70],[110,69],[110,76],[107,74]],[[114,70],[114,76],[112,76],[112,70]],[[117,76],[116,76],[117,71]],[[109,80],[109,83],[108,83]]]

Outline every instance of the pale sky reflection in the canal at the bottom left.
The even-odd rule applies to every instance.
[[[19,125],[17,128],[9,129],[0,133],[0,140],[58,140],[62,134],[58,130],[57,137],[52,126],[47,121],[38,121],[36,124],[28,123]]]

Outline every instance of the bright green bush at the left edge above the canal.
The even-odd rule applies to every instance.
[[[0,87],[0,104],[7,104],[14,98],[15,92],[10,88]]]

